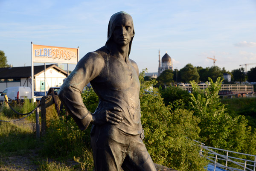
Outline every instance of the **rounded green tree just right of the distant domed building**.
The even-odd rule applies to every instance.
[[[189,81],[199,81],[199,74],[196,67],[192,64],[187,64],[184,68],[180,69],[180,75],[182,81],[188,83]]]

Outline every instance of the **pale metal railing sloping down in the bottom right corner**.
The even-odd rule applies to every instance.
[[[256,155],[208,147],[203,143],[201,143],[200,147],[199,154],[209,160],[209,165],[214,166],[214,171],[216,167],[223,168],[226,171],[255,171],[256,169]],[[242,158],[235,157],[236,155]],[[243,158],[251,158],[253,160]]]

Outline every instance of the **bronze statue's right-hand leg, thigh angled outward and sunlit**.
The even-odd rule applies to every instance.
[[[157,171],[140,135],[131,136],[128,155],[122,168],[124,171]]]

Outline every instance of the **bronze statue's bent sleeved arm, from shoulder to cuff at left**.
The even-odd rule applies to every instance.
[[[62,84],[58,96],[76,124],[84,130],[93,122],[93,116],[81,98],[84,87],[96,78],[104,67],[104,59],[96,52],[85,55]]]

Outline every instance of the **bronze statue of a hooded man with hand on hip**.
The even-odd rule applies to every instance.
[[[113,14],[105,46],[87,53],[61,86],[58,96],[81,130],[91,123],[95,171],[156,171],[142,139],[140,81],[137,64],[129,59],[134,38],[132,17]],[[99,96],[94,113],[81,92],[90,82]]]

